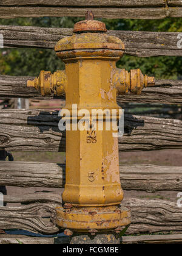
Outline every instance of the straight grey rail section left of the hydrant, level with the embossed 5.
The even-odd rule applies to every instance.
[[[65,165],[62,164],[7,161],[0,164],[0,185],[63,188],[64,182]]]

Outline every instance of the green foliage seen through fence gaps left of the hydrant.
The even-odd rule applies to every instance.
[[[0,20],[1,25],[73,27],[78,18],[16,18]],[[64,69],[64,63],[58,59],[52,49],[2,49],[0,55],[0,73],[12,76],[38,76],[44,70]]]

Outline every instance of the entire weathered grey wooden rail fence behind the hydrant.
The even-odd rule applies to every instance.
[[[92,8],[96,17],[159,19],[181,17],[182,2],[174,1],[22,1],[3,0],[0,18],[36,16],[84,16]],[[61,37],[72,35],[72,29],[0,26],[7,48],[32,47],[53,49]],[[126,44],[126,54],[138,57],[157,55],[182,56],[177,47],[178,33],[109,31]],[[132,39],[131,39],[132,38]],[[27,88],[32,77],[0,76],[0,98],[43,99],[33,88]],[[128,94],[119,104],[182,104],[182,80],[157,80],[157,86],[146,88],[140,96]],[[52,99],[50,96],[47,99]],[[44,98],[45,99],[45,98]],[[152,151],[182,148],[182,121],[151,116],[125,117],[124,136],[119,140],[123,151]],[[58,112],[48,110],[1,110],[0,148],[11,151],[65,151],[65,134],[58,130]],[[51,170],[51,172],[50,172]],[[181,191],[182,167],[152,165],[120,166],[124,190]],[[0,163],[0,186],[63,188],[64,164],[37,162]],[[61,193],[34,193],[26,196],[4,196],[7,204],[20,206],[0,208],[0,229],[24,229],[35,233],[54,234],[55,207],[61,204]],[[127,235],[136,233],[174,232],[173,235],[123,236],[121,243],[182,243],[182,208],[162,200],[129,199],[132,224]],[[178,233],[178,234],[175,234]],[[30,238],[0,235],[0,243],[66,243],[68,238]],[[63,241],[64,240],[64,241]]]

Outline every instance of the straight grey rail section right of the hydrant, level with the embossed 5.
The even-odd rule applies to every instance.
[[[124,190],[181,191],[182,167],[120,165],[120,180]]]

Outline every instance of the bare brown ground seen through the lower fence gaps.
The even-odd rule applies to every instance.
[[[123,152],[120,154],[120,164],[124,165],[161,165],[161,166],[182,166],[182,149],[163,150],[163,151],[149,151],[149,152]],[[50,162],[50,163],[64,163],[64,153],[52,152],[13,152],[15,161],[24,162]],[[61,193],[60,189],[53,188],[15,188],[7,187],[9,195],[27,194],[35,191],[53,191]],[[157,193],[146,193],[144,191],[124,191],[124,201],[127,198],[135,197],[138,199],[161,199],[177,202],[177,191],[160,191]]]

